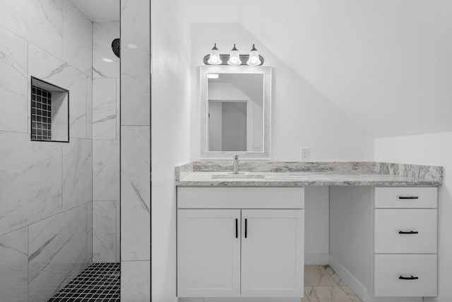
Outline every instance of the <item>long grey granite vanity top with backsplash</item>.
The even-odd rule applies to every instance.
[[[305,187],[308,185],[439,186],[443,168],[378,162],[195,161],[176,167],[180,187]]]

